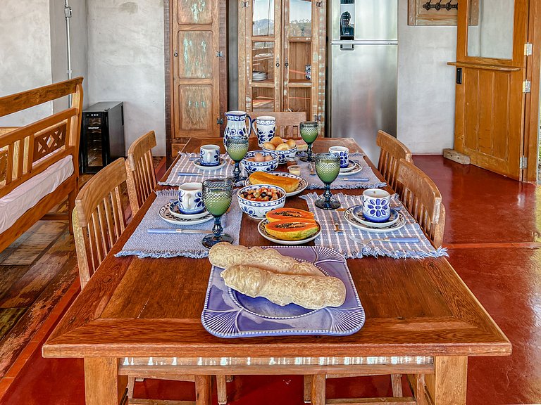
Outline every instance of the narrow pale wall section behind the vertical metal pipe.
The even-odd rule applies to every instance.
[[[68,79],[68,50],[66,39],[66,18],[64,18],[64,1],[50,0],[51,18],[51,70],[53,82]],[[87,0],[69,0],[72,9],[70,18],[71,70],[72,77],[82,76],[83,108],[88,105],[88,34],[87,34]],[[54,112],[66,108],[68,98],[54,101]]]

